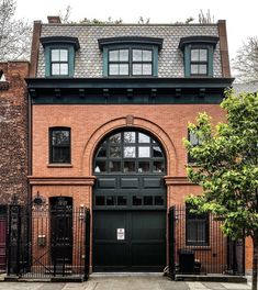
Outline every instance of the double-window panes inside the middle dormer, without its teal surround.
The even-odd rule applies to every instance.
[[[153,76],[153,51],[132,47],[109,51],[109,76]]]

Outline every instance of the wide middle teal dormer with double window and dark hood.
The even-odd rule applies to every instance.
[[[99,40],[104,77],[157,77],[162,40],[112,37]]]

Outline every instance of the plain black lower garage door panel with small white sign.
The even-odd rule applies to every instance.
[[[94,271],[161,271],[166,263],[165,211],[97,211]]]

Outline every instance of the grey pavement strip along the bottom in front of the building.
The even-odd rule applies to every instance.
[[[162,276],[90,277],[82,283],[0,282],[0,290],[250,290],[247,283],[181,282]]]

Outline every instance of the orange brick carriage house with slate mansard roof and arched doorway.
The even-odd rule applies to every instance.
[[[233,81],[225,21],[48,21],[34,23],[26,79],[32,203],[52,209],[41,231],[33,224],[34,253],[48,255],[48,263],[65,260],[65,267],[81,264],[76,261],[81,227],[75,209],[88,208],[92,271],[161,271],[173,255],[169,209],[183,204],[189,193],[201,193],[186,174],[191,160],[182,138],[195,142],[188,122],[200,111],[214,123],[224,119],[218,104]],[[192,219],[184,212],[181,249],[192,246],[203,271],[220,264],[217,272],[225,272],[226,242],[215,249],[214,238],[221,234],[207,224],[209,217]],[[47,252],[60,241],[59,256]],[[210,261],[202,259],[204,252]]]

